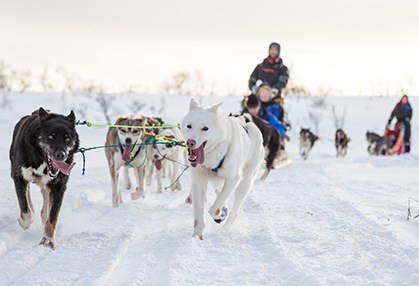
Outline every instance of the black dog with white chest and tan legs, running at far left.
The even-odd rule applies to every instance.
[[[10,162],[20,207],[19,223],[23,229],[32,223],[29,183],[36,183],[44,198],[41,210],[44,237],[40,244],[53,249],[58,214],[78,147],[73,111],[64,116],[40,108],[22,117],[13,131]]]

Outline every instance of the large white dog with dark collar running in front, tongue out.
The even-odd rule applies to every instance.
[[[225,226],[231,226],[253,187],[265,157],[262,134],[256,125],[221,115],[218,112],[220,105],[202,108],[192,99],[189,113],[181,124],[192,166],[193,235],[201,240],[204,238],[203,213],[208,182],[217,189],[217,198],[209,209],[217,223],[227,217],[228,210],[224,204],[230,194],[235,193],[233,207],[225,223]]]

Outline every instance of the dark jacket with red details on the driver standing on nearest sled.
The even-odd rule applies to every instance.
[[[256,81],[260,79],[264,84],[281,91],[287,85],[288,77],[288,68],[282,59],[268,57],[253,70],[249,79],[249,88],[252,89]]]

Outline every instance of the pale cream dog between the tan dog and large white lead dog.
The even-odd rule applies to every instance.
[[[182,141],[182,134],[178,128],[159,129],[158,136],[166,140]],[[180,191],[182,186],[179,179],[181,165],[185,161],[185,149],[181,146],[173,146],[170,143],[159,142],[148,146],[148,158],[151,164],[148,165],[147,184],[151,184],[151,177],[156,173],[157,193],[163,193],[162,178],[166,175],[173,185],[172,191]],[[176,182],[175,182],[176,181]]]

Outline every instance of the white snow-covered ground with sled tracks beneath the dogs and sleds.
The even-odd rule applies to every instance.
[[[237,97],[199,100],[204,105],[224,101],[223,112],[239,111]],[[77,154],[58,247],[52,251],[38,245],[42,200],[37,186],[31,186],[33,225],[24,231],[17,222],[8,159],[14,124],[40,106],[65,114],[74,109],[78,119],[95,123],[105,119],[93,96],[3,95],[0,285],[419,285],[419,220],[406,220],[408,197],[419,199],[418,117],[412,122],[411,154],[370,157],[366,152],[365,132],[382,133],[397,100],[330,97],[314,107],[310,98],[287,99],[292,164],[255,184],[231,230],[221,232],[206,215],[204,241],[191,237],[192,207],[184,203],[188,171],[181,192],[158,195],[152,188],[145,199],[130,201],[129,191],[123,191],[124,204],[112,208],[103,150],[86,153],[84,176]],[[418,107],[419,98],[411,103]],[[111,117],[137,111],[179,122],[188,105],[185,96],[117,95]],[[346,109],[345,130],[352,141],[345,158],[335,157],[331,106],[338,114]],[[321,140],[303,161],[298,132],[300,126],[312,126],[309,113],[321,118]],[[77,128],[83,147],[104,143],[106,128]],[[208,203],[214,196],[209,192]],[[418,214],[419,204],[412,211]]]

